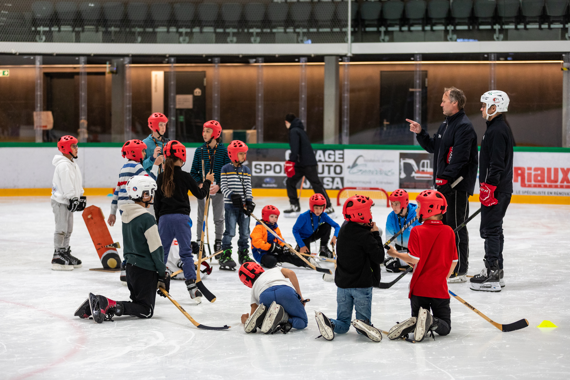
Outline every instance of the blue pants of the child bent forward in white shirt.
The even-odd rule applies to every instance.
[[[273,301],[281,305],[287,314],[289,314],[287,321],[294,329],[301,330],[307,327],[307,312],[301,303],[301,297],[297,294],[295,289],[287,285],[277,285],[265,289],[263,293],[259,295],[259,302],[267,308],[271,306]]]

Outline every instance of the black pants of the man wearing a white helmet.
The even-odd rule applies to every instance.
[[[481,238],[485,239],[485,259],[499,260],[499,269],[503,269],[503,218],[511,203],[511,194],[495,193],[499,202],[492,206],[481,205]]]

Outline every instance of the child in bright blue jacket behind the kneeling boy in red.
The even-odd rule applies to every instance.
[[[390,206],[392,206],[392,213],[388,215],[386,219],[386,240],[390,239],[393,235],[396,235],[410,220],[416,218],[417,205],[409,203],[408,192],[404,189],[397,189],[390,194]],[[396,238],[390,246],[395,247],[397,251],[408,251],[408,239],[410,238],[410,232],[414,226],[421,226],[421,223],[416,220],[400,236]],[[408,264],[404,261],[392,258],[388,258],[384,261],[384,266],[386,271],[399,273],[401,269],[407,269]]]

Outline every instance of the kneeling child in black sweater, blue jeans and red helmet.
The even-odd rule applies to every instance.
[[[336,320],[315,310],[319,331],[326,340],[333,340],[335,333],[348,332],[353,308],[356,319],[352,325],[357,332],[374,342],[382,340],[380,330],[370,324],[372,287],[380,284],[380,264],[384,262],[382,237],[370,213],[373,204],[363,195],[344,202],[343,215],[348,223],[340,228],[336,245]]]

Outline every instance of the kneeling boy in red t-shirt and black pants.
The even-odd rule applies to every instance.
[[[414,267],[408,298],[412,317],[390,329],[388,338],[398,339],[414,332],[414,340],[421,342],[431,332],[447,335],[451,331],[451,309],[447,279],[457,265],[455,234],[445,226],[442,216],[447,201],[439,191],[425,190],[416,198],[421,226],[412,228],[408,253],[391,247],[388,255],[402,259]],[[430,314],[429,310],[433,313]]]

